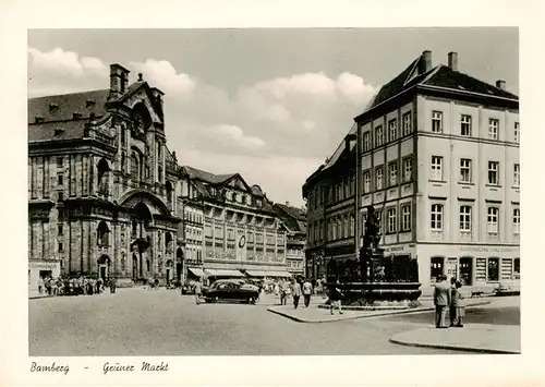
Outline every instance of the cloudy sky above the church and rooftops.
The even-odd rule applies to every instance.
[[[423,50],[519,94],[516,28],[35,29],[28,96],[109,87],[109,64],[165,94],[179,162],[240,172],[275,202],[301,186],[366,102]]]

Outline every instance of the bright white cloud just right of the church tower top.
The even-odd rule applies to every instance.
[[[195,81],[185,73],[178,73],[166,60],[147,59],[143,62],[131,62],[131,66],[143,73],[144,80],[156,85],[164,93],[189,96],[195,89]]]

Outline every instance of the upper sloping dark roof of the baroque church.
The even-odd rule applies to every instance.
[[[41,117],[44,122],[68,121],[74,118],[74,112],[87,119],[90,113],[95,113],[97,118],[101,117],[106,114],[105,104],[109,93],[109,89],[104,89],[31,98],[28,123],[35,123],[36,117]]]

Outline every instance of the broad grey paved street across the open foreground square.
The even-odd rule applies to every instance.
[[[302,324],[267,312],[266,305],[197,306],[193,298],[164,289],[28,304],[31,355],[459,353],[388,342],[393,334],[429,325],[427,314]]]

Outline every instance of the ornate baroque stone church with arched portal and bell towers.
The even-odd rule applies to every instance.
[[[180,218],[162,93],[110,66],[109,89],[28,100],[31,289],[39,276],[171,276]]]

